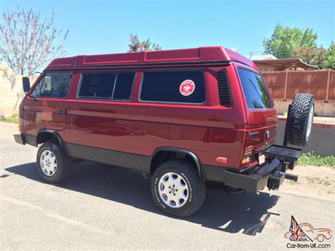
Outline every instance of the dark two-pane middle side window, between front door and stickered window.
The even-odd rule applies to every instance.
[[[129,100],[134,73],[82,74],[79,98]]]

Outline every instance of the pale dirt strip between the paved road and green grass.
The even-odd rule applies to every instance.
[[[281,192],[335,201],[335,168],[325,166],[298,165],[288,173],[299,175],[298,182],[285,180]]]

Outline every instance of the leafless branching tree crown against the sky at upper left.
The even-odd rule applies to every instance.
[[[42,19],[40,13],[20,9],[3,13],[0,23],[0,58],[17,74],[31,74],[64,52],[69,29],[54,26],[51,18]]]

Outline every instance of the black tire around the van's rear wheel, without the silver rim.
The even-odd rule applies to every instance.
[[[187,202],[180,208],[172,208],[165,204],[158,192],[160,178],[166,173],[177,173],[182,176],[189,187]],[[198,211],[204,203],[206,187],[197,168],[186,160],[169,160],[155,170],[151,179],[151,193],[158,208],[172,216],[187,217]]]

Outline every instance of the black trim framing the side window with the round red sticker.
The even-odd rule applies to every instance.
[[[142,93],[142,86],[143,86],[143,78],[144,74],[146,72],[155,72],[155,71],[199,71],[202,73],[202,76],[204,77],[204,94],[205,94],[205,100],[202,103],[185,103],[185,102],[167,102],[167,101],[150,101],[150,100],[141,100],[141,93]],[[142,71],[141,76],[141,85],[139,88],[139,97],[138,100],[140,103],[155,103],[155,104],[167,104],[167,105],[204,105],[207,101],[207,85],[206,85],[206,78],[205,78],[205,71],[199,70],[199,69],[154,69],[154,70],[148,70],[148,71]]]

